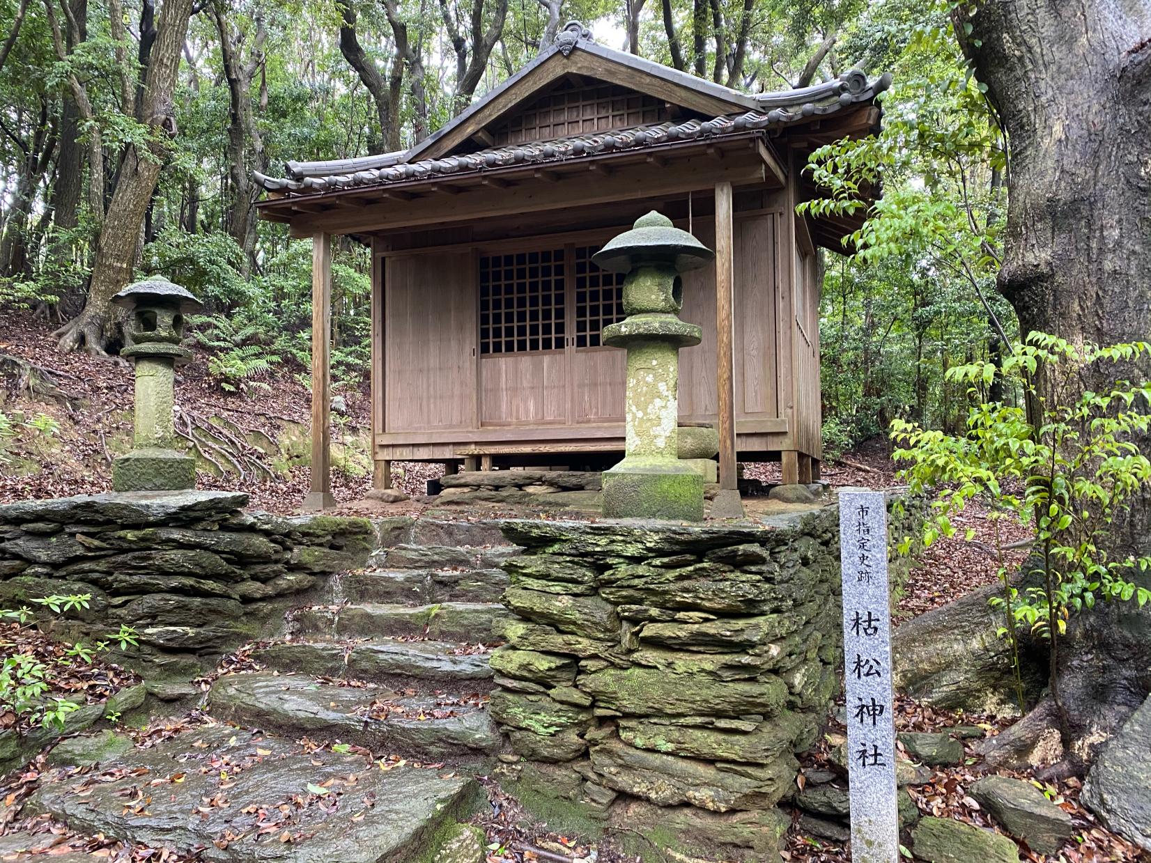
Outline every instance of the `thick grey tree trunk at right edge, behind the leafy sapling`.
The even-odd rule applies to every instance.
[[[999,288],[1021,330],[1103,344],[1146,341],[1151,6],[992,0],[955,30],[1009,137]],[[1146,365],[1118,372],[1149,373]],[[1112,366],[1083,385],[1114,375]],[[1151,495],[1134,502],[1113,539],[1123,553],[1151,552]],[[1070,726],[1064,736],[1074,755],[1089,758],[1151,692],[1151,608],[1141,613],[1113,602],[1075,616],[1061,654],[1055,682]]]

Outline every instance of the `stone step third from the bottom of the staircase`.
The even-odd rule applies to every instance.
[[[285,641],[253,650],[252,658],[276,671],[372,683],[487,689],[488,654],[453,652],[462,649],[466,646],[444,641]]]

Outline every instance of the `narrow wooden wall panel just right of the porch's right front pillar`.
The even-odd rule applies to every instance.
[[[773,213],[735,220],[735,417],[778,417]]]

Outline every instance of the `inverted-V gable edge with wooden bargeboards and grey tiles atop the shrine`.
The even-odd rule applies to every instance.
[[[708,116],[744,112],[756,106],[752,97],[738,91],[579,38],[552,45],[517,75],[409,150],[403,161],[441,159],[475,136],[479,136],[479,140],[488,137],[495,140],[495,130],[508,124],[517,112],[546,97],[561,79],[570,76],[590,79],[589,83],[624,87],[660,102]]]

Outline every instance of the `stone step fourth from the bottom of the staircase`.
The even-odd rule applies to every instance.
[[[434,641],[486,644],[495,621],[512,619],[502,605],[442,602],[430,605],[358,603],[312,605],[291,612],[288,633],[295,637],[395,639],[426,636]]]

